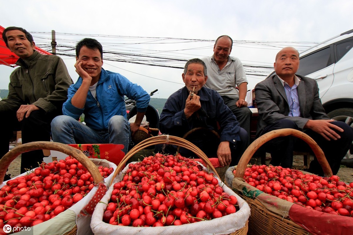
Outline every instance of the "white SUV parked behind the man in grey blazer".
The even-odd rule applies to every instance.
[[[353,127],[353,29],[300,53],[297,74],[313,78],[327,115]],[[353,144],[342,159],[353,167]]]

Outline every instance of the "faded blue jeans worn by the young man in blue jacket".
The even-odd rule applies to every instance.
[[[123,144],[126,154],[131,141],[130,125],[124,116],[115,115],[108,129],[96,131],[76,119],[61,115],[52,121],[52,139],[62,144]]]

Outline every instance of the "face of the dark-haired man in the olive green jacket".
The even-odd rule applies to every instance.
[[[10,30],[6,32],[8,48],[19,58],[25,59],[31,56],[35,50],[35,43],[30,43],[24,32]]]

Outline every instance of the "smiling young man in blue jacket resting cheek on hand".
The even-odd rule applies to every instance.
[[[52,136],[64,144],[123,144],[127,152],[131,133],[136,132],[150,101],[150,96],[137,84],[119,73],[106,71],[103,48],[95,39],[84,38],[76,44],[77,82],[68,89],[62,106],[64,115],[52,121]],[[126,119],[124,95],[136,101],[137,116],[133,123]],[[85,123],[79,122],[81,114]]]

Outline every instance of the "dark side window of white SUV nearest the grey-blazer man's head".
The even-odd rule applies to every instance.
[[[297,74],[306,76],[313,72],[322,70],[329,65],[333,64],[333,59],[331,56],[331,48],[327,47],[318,52],[307,55],[300,58],[299,69]]]

